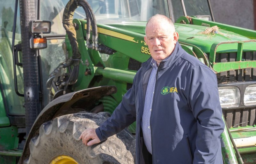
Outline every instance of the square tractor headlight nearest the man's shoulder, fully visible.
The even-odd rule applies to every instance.
[[[240,104],[240,90],[237,87],[219,87],[222,108],[236,107]]]

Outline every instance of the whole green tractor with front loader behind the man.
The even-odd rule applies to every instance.
[[[0,4],[0,163],[134,163],[134,123],[97,145],[78,138],[132,87],[150,57],[146,21],[157,13],[217,75],[224,163],[256,163],[256,32],[215,22],[209,0]]]

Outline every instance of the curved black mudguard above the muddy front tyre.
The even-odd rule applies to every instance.
[[[56,113],[58,116],[61,116],[61,114],[66,114],[70,107],[74,107],[77,109],[76,111],[72,110],[72,112],[74,113],[90,110],[95,106],[95,103],[100,98],[116,93],[116,90],[117,89],[115,86],[94,87],[68,93],[51,101],[37,116],[36,121],[30,129],[30,132],[27,136],[26,144],[23,149],[23,153],[20,157],[18,164],[22,164],[22,161],[29,157],[29,142],[31,138],[35,137],[39,133],[39,127],[41,126],[41,124],[55,118]]]

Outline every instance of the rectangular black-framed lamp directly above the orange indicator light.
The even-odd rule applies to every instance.
[[[31,20],[29,22],[29,32],[32,34],[49,34],[51,33],[51,21]]]

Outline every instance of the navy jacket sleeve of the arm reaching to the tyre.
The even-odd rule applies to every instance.
[[[136,74],[137,75],[137,74]],[[136,121],[135,109],[135,79],[133,85],[128,90],[122,99],[122,102],[116,107],[112,115],[99,128],[96,129],[96,134],[100,141],[122,131],[124,128]]]

